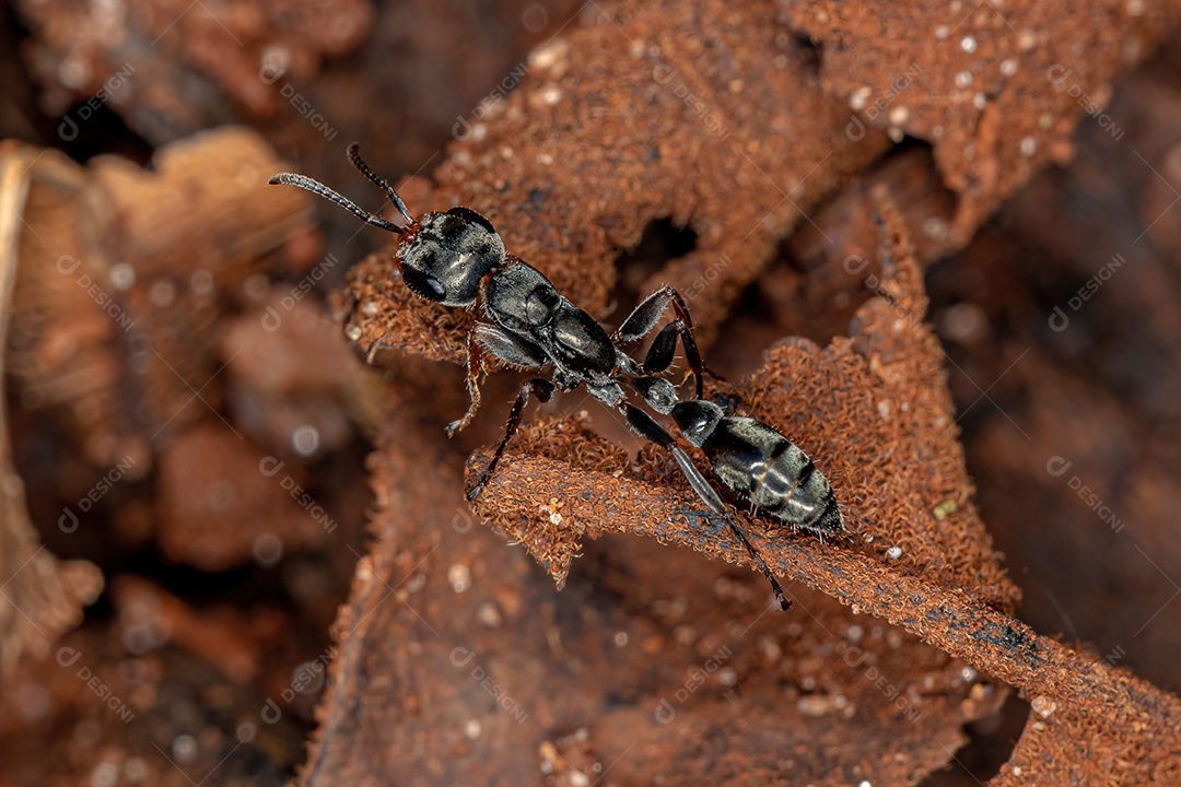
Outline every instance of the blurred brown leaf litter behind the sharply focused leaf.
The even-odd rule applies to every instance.
[[[392,182],[430,176],[449,145],[481,133],[482,103],[516,86],[535,46],[593,21],[586,6],[554,0],[0,7],[0,138],[63,153],[30,157],[43,189],[26,218],[47,235],[47,264],[64,273],[63,257],[81,261],[65,284],[18,277],[5,363],[12,461],[39,542],[105,578],[65,645],[37,654],[25,635],[8,641],[32,655],[4,697],[0,783],[183,783],[171,765],[124,752],[151,747],[198,775],[224,755],[217,783],[294,775],[374,504],[366,454],[380,383],[325,317],[345,309],[328,294],[387,238],[326,203],[313,221],[311,202],[262,192],[257,177],[289,169],[360,194],[344,157],[353,140]],[[1087,86],[1102,110],[1082,117],[1062,163],[1033,175],[966,248],[926,260],[927,320],[983,517],[1024,592],[1017,616],[1170,691],[1181,690],[1179,42],[1172,33],[1110,87]],[[227,126],[256,137],[174,149],[171,169],[128,165]],[[903,212],[939,214],[929,205],[951,196],[932,185],[929,145],[895,142],[873,177],[919,195]],[[203,192],[202,178],[231,191],[239,176],[234,210],[208,208],[226,194]],[[118,195],[112,204],[91,203],[87,178]],[[848,199],[834,189],[808,211],[740,294],[709,349],[717,372],[756,369],[784,336],[823,345],[847,332],[873,293],[863,277],[834,284],[842,260],[817,251],[817,232],[841,231]],[[620,250],[621,303],[692,243],[671,218],[653,221]],[[194,268],[180,248],[208,253],[208,264]],[[132,257],[143,262],[120,267]],[[98,301],[81,275],[112,282],[105,315],[132,329],[87,316]],[[306,299],[285,301],[309,281]],[[282,330],[265,327],[268,309]],[[442,428],[438,413],[462,412],[456,367],[391,366],[406,400],[419,396],[407,422]],[[492,381],[487,400],[498,407],[513,388]],[[465,434],[449,461],[494,440],[500,418]],[[255,471],[263,465],[274,473]],[[466,516],[458,503],[441,505]],[[77,522],[63,520],[67,511]],[[6,546],[5,578],[32,559],[27,546]],[[109,696],[78,688],[92,676]],[[87,709],[96,697],[149,710],[113,726],[106,714],[120,711]],[[243,727],[276,697],[279,723]],[[981,723],[961,763],[926,783],[994,774],[1024,711],[1014,700]],[[175,733],[168,750],[149,741],[152,728]],[[196,729],[208,740],[184,732]]]

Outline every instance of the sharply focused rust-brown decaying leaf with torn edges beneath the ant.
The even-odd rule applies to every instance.
[[[918,73],[932,76],[911,94],[914,112],[905,114],[900,109],[905,101],[898,100],[898,91],[888,90],[896,71],[883,65],[890,64],[888,55],[875,54],[874,78],[882,85],[849,88],[847,84],[864,72],[857,58],[866,50],[852,41],[873,39],[879,31],[866,28],[876,25],[880,13],[893,12],[841,7],[800,19],[813,9],[792,8],[783,19],[813,32],[810,44],[801,47],[801,39],[783,20],[763,19],[746,8],[723,12],[709,2],[692,12],[685,6],[640,12],[595,7],[590,15],[598,25],[573,29],[535,53],[537,71],[505,101],[487,136],[455,149],[436,172],[433,188],[412,181],[403,196],[415,210],[462,203],[488,212],[514,253],[599,316],[615,282],[615,271],[607,264],[612,254],[634,244],[648,221],[671,217],[676,225],[696,232],[696,248],[660,269],[641,291],[666,281],[697,291],[709,280],[710,297],[692,303],[707,341],[737,294],[774,256],[774,245],[800,221],[801,209],[842,177],[866,169],[882,150],[887,137],[874,131],[875,124],[886,131],[926,135],[934,145],[954,204],[942,229],[922,228],[939,236],[934,243],[920,244],[931,254],[963,244],[1037,163],[1046,157],[1061,160],[1082,107],[1065,100],[1058,85],[1042,74],[1048,65],[1070,68],[1085,57],[1102,64],[1098,71],[1085,73],[1109,79],[1120,63],[1128,61],[1121,60],[1127,51],[1120,51],[1120,33],[1095,41],[1101,57],[1083,54],[1077,38],[1039,12],[1037,20],[1029,20],[1032,39],[1018,26],[1012,41],[1001,41],[1001,25],[981,21],[990,9],[999,17],[991,7],[972,13],[960,9],[968,27],[957,32],[957,39],[976,37],[958,46],[967,54],[974,52],[963,68],[984,83],[979,90],[985,106],[973,104],[974,93],[945,90],[948,79],[964,79],[947,70],[950,45],[940,47],[955,27],[957,19],[951,19],[944,35],[939,35],[939,24],[931,22],[928,42],[898,39],[918,58]],[[1019,17],[1023,9],[1006,7],[1004,12]],[[1045,13],[1061,19],[1063,9]],[[1175,9],[1160,13],[1163,20],[1173,18]],[[706,44],[691,14],[710,20]],[[1128,19],[1137,31],[1148,27]],[[912,19],[911,24],[928,21]],[[906,25],[907,20],[883,21],[887,27],[895,22]],[[776,37],[776,31],[783,35]],[[1144,33],[1143,40],[1149,38]],[[1027,40],[1036,45],[1023,45]],[[771,41],[770,51],[759,51]],[[711,53],[698,59],[703,46]],[[775,51],[776,46],[782,48]],[[719,58],[718,52],[725,55]],[[578,79],[570,76],[570,63],[578,63]],[[700,71],[698,63],[710,65]],[[756,63],[775,63],[785,73],[756,68]],[[756,71],[758,78],[751,76]],[[602,84],[613,90],[595,92]],[[862,98],[872,100],[853,100],[850,113],[850,97],[862,92],[868,93]],[[820,98],[826,93],[831,101]],[[973,109],[965,112],[965,101]],[[756,106],[757,116],[744,114]],[[876,111],[856,114],[866,106]],[[1051,123],[1045,125],[1030,106],[1052,106]],[[706,122],[705,112],[736,119],[724,143],[694,126]],[[1013,137],[1023,127],[1006,126],[1007,113],[1024,113],[1040,125]],[[609,125],[598,122],[605,116],[612,118]],[[856,139],[846,136],[848,124],[859,119]],[[951,125],[940,126],[941,122]],[[973,144],[964,146],[964,139]],[[1179,741],[1176,700],[1011,617],[1018,591],[1000,568],[972,505],[972,484],[963,468],[945,385],[945,359],[922,326],[926,300],[920,268],[903,222],[890,215],[887,202],[875,202],[890,230],[881,275],[870,286],[875,296],[859,309],[848,337],[839,336],[824,347],[784,341],[769,352],[753,375],[733,388],[719,388],[737,393],[746,412],[803,446],[846,504],[852,532],[839,543],[771,532],[765,520],[740,516],[777,570],[815,589],[792,586],[802,609],[798,622],[787,623],[777,612],[768,612],[770,619],[746,623],[744,615],[758,615],[769,595],[757,575],[707,569],[691,552],[671,549],[672,544],[690,546],[749,565],[740,547],[705,516],[699,500],[658,452],[645,451],[631,464],[618,447],[598,437],[603,421],[609,421],[601,413],[594,414],[593,422],[582,417],[535,419],[518,435],[477,505],[477,512],[491,519],[510,543],[523,545],[559,584],[565,582],[563,595],[547,602],[535,581],[524,579],[531,575],[521,565],[518,552],[496,557],[462,507],[455,513],[432,511],[437,500],[420,498],[413,490],[410,477],[424,459],[420,453],[404,457],[400,445],[407,434],[415,435],[415,445],[420,439],[430,442],[430,435],[407,426],[415,418],[406,404],[415,383],[396,372],[393,414],[383,427],[381,451],[374,460],[374,483],[383,500],[374,520],[379,540],[340,621],[338,635],[348,657],[334,664],[338,688],[327,697],[305,781],[346,776],[364,781],[381,768],[399,767],[420,769],[433,779],[463,774],[514,781],[540,760],[552,783],[568,783],[572,774],[583,773],[581,768],[622,783],[657,775],[768,783],[788,773],[791,783],[847,783],[862,778],[872,783],[915,783],[926,769],[947,762],[954,745],[939,735],[911,742],[903,734],[914,730],[907,727],[909,720],[887,721],[870,711],[873,702],[859,691],[857,682],[867,673],[846,669],[860,648],[850,644],[849,632],[855,638],[863,631],[866,624],[857,615],[869,614],[1026,693],[1033,702],[1026,739],[997,783],[1023,779],[1071,783],[1071,779],[1094,776],[1088,775],[1081,752],[1090,746],[1094,755],[1096,742],[1084,729],[1101,730],[1095,735],[1102,737],[1105,752],[1129,763],[1118,775],[1120,783],[1169,783],[1175,778],[1170,758]],[[840,249],[846,238],[834,242],[824,236],[824,241]],[[389,255],[374,255],[353,270],[351,294],[350,337],[360,349],[380,340],[381,347],[432,359],[462,356],[464,320],[409,295]],[[405,368],[400,361],[397,367]],[[430,460],[445,465],[450,454],[442,447],[438,451]],[[488,455],[481,452],[472,458],[469,476],[484,466]],[[446,477],[439,479],[444,486],[454,485],[454,468],[448,467]],[[448,524],[464,533],[470,530],[469,542],[454,545]],[[432,526],[443,534],[431,536]],[[645,539],[621,539],[620,533],[654,539],[645,545]],[[502,588],[511,576],[521,577],[518,592],[500,591],[477,602],[484,598],[482,588]],[[445,601],[448,588],[438,586],[442,577],[461,593],[454,601]],[[854,615],[834,606],[831,599],[850,605]],[[455,615],[475,616],[489,631],[471,632],[452,624],[438,629],[436,623],[448,619],[439,617],[441,605]],[[569,611],[562,616],[561,610]],[[383,615],[385,623],[374,619]],[[672,630],[673,641],[659,628],[640,635],[650,619]],[[784,627],[796,637],[820,637],[809,645],[810,658],[818,662],[809,662],[805,649],[797,649],[801,643],[784,644]],[[619,634],[608,641],[605,629]],[[544,643],[537,641],[539,631],[547,632]],[[680,647],[692,654],[687,658],[676,644],[678,631]],[[727,697],[725,682],[707,677],[700,683],[713,687],[707,695],[694,696],[696,689],[684,690],[676,677],[661,682],[664,670],[676,673],[678,664],[685,674],[694,663],[716,660],[720,651],[715,647],[738,652],[727,637],[743,640],[756,631],[765,647],[762,669],[777,678],[736,667],[737,677],[726,673],[727,681],[736,680],[733,697]],[[644,658],[654,663],[637,663],[627,652],[638,636]],[[824,640],[828,645],[821,644]],[[403,644],[374,654],[372,649],[381,648],[381,642]],[[921,671],[921,654],[928,645],[909,638],[903,642],[900,647],[915,654],[912,665]],[[605,670],[602,651],[612,644],[620,649],[612,657],[613,667],[619,665]],[[753,658],[753,651],[743,649],[735,656],[736,663],[749,663],[748,658]],[[877,652],[874,658],[883,656]],[[800,671],[798,662],[817,667],[822,662],[826,677]],[[900,683],[922,682],[909,674],[916,682],[908,683],[901,676],[906,674],[903,669],[898,683],[887,683],[896,689]],[[354,714],[363,708],[359,687],[390,675],[398,677],[383,683],[387,687],[383,706],[396,710],[376,715],[380,719],[376,724],[357,720]],[[880,673],[873,675],[876,678]],[[416,686],[448,680],[457,693],[452,701],[428,701],[416,690]],[[817,682],[826,680],[829,688],[815,691]],[[952,708],[955,691],[967,689],[976,696],[963,681],[935,684],[947,690],[939,701],[947,703],[944,709]],[[573,686],[578,690],[572,695]],[[792,689],[779,694],[783,686],[796,694]],[[648,708],[665,709],[661,702],[671,704],[670,693],[699,700],[699,704],[673,707],[687,732],[670,728],[663,735],[646,714]],[[596,699],[618,709],[605,715],[594,707]],[[733,715],[733,702],[743,704],[740,716]],[[770,706],[765,710],[764,702]],[[984,704],[965,701],[961,721]],[[1063,714],[1068,707],[1070,711]],[[840,715],[842,708],[853,708],[849,715],[863,726],[846,720],[839,732],[804,723],[817,715]],[[514,726],[505,710],[521,710],[528,719]],[[554,732],[547,733],[534,759],[528,742],[536,740],[539,716],[540,728]],[[1146,736],[1148,719],[1154,720],[1155,732]],[[960,722],[948,719],[947,723]],[[1058,748],[1048,754],[1043,741],[1050,739],[1042,733],[1051,727]],[[396,729],[398,740],[433,743],[410,752],[399,746],[381,750],[371,728]],[[439,735],[439,729],[463,729],[468,741],[458,733]],[[836,739],[842,734],[856,737],[860,749],[841,748]],[[497,741],[496,748],[489,748],[488,737]],[[509,747],[505,753],[505,740],[522,741],[521,750]],[[890,741],[907,742],[895,748]],[[883,748],[875,749],[879,745]],[[633,756],[633,749],[644,755]],[[381,752],[386,759],[374,770],[357,767],[360,750]],[[905,767],[881,770],[880,763],[890,761],[885,752]],[[487,762],[488,756],[496,758],[495,765]],[[879,770],[869,770],[869,762]]]

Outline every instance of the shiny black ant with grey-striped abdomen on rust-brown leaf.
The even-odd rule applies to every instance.
[[[748,494],[753,505],[776,512],[794,526],[817,532],[843,529],[828,481],[820,473],[814,473],[811,460],[802,451],[755,419],[725,415],[720,407],[703,400],[703,375],[707,369],[693,339],[689,308],[677,290],[663,287],[652,293],[614,334],[608,335],[594,317],[562,296],[541,271],[508,254],[488,218],[458,205],[446,212],[426,212],[415,219],[393,186],[365,164],[358,145],[348,147],[348,159],[386,194],[406,219],[403,227],[364,210],[304,175],[281,172],[272,176],[269,183],[311,191],[337,203],[366,224],[398,235],[402,242],[394,251],[394,260],[410,290],[436,303],[476,313],[475,326],[468,333],[470,405],[462,418],[448,425],[448,437],[468,426],[479,408],[479,376],[484,372],[485,355],[523,369],[553,366],[550,379],[534,378],[521,387],[509,412],[504,437],[491,461],[468,491],[468,499],[475,500],[488,485],[530,398],[546,402],[555,391],[568,392],[586,383],[592,396],[625,413],[628,425],[640,437],[673,455],[710,511],[723,517],[746,547],[771,583],[779,605],[787,610],[791,603],[784,597],[783,589],[730,517],[718,493],[672,435],[651,415],[626,401],[624,385],[635,391],[652,409],[672,414],[685,439],[706,452],[722,480]],[[619,345],[647,336],[670,306],[673,308],[673,321],[657,334],[644,361],[637,363]],[[678,336],[694,376],[697,398],[691,401],[679,401],[673,385],[659,376],[672,365]],[[711,408],[717,408],[717,412]],[[742,479],[745,481],[742,483]],[[794,480],[790,486],[789,480]],[[800,499],[796,499],[797,492],[820,496],[817,499],[826,501],[820,514],[808,519],[807,524],[798,511],[807,504],[808,496],[798,494]]]

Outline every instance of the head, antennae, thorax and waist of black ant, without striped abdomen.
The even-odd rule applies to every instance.
[[[491,478],[530,396],[548,401],[555,391],[572,391],[586,383],[592,396],[622,409],[626,399],[622,386],[626,385],[654,411],[667,414],[678,401],[677,393],[671,382],[658,375],[672,365],[680,336],[700,399],[704,367],[689,310],[674,289],[665,287],[650,295],[609,336],[589,314],[563,297],[541,271],[508,254],[492,223],[484,216],[459,205],[442,214],[424,214],[416,221],[393,186],[361,160],[358,145],[348,147],[348,159],[385,192],[406,219],[404,225],[398,227],[364,210],[302,175],[281,172],[273,176],[270,183],[306,189],[337,203],[366,224],[398,235],[402,242],[394,258],[406,287],[436,303],[476,314],[476,323],[468,333],[466,379],[471,404],[462,418],[446,427],[448,435],[468,426],[479,408],[479,375],[484,372],[485,355],[517,368],[553,366],[550,379],[534,378],[521,387],[509,413],[504,438],[468,492],[469,500],[478,497]],[[618,345],[648,335],[670,306],[674,320],[657,335],[644,362],[637,363]]]

